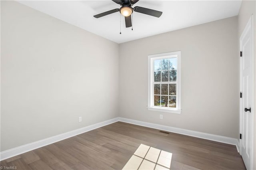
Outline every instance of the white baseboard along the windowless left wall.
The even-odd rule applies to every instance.
[[[69,131],[69,132],[58,134],[56,136],[52,136],[50,138],[42,139],[42,140],[39,140],[39,141],[36,141],[36,142],[32,142],[32,143],[29,143],[29,144],[18,146],[16,148],[12,148],[12,149],[9,149],[9,150],[2,151],[2,152],[0,152],[0,160],[5,160],[7,158],[11,158],[13,156],[28,152],[30,150],[34,150],[34,149],[46,146],[48,144],[52,144],[52,143],[58,142],[60,140],[64,140],[66,138],[70,138],[72,136],[76,136],[78,134],[88,132],[90,130],[109,125],[109,124],[114,123],[114,122],[118,122],[118,120],[119,120],[119,118],[116,117],[114,119],[110,119],[110,120],[103,121],[103,122],[100,122],[100,123],[95,123],[95,124],[89,125],[87,127],[79,128],[79,129],[76,129],[76,130],[72,130],[72,131]]]

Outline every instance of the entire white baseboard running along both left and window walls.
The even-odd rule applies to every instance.
[[[52,136],[50,138],[38,140],[36,142],[32,142],[32,143],[29,143],[29,144],[18,146],[16,148],[12,148],[12,149],[9,149],[9,150],[2,151],[2,152],[0,152],[0,161],[11,158],[13,156],[16,156],[16,155],[19,155],[19,154],[22,154],[22,153],[25,153],[25,152],[28,152],[30,150],[34,150],[34,149],[46,146],[48,144],[58,142],[60,140],[64,140],[66,138],[70,138],[72,136],[76,136],[76,135],[84,133],[84,132],[88,132],[90,130],[94,130],[96,128],[100,128],[100,127],[118,122],[118,121],[125,122],[125,123],[131,123],[131,124],[134,124],[134,125],[140,125],[140,126],[143,126],[143,127],[156,128],[156,129],[159,129],[159,130],[165,130],[165,131],[168,131],[168,132],[174,132],[174,133],[184,134],[184,135],[188,135],[188,136],[194,136],[194,137],[197,137],[197,138],[213,140],[213,141],[222,142],[222,143],[226,143],[226,144],[232,144],[232,145],[236,146],[236,148],[239,152],[239,141],[236,138],[229,138],[229,137],[219,136],[219,135],[215,135],[215,134],[208,134],[208,133],[203,133],[203,132],[186,130],[186,129],[182,129],[182,128],[175,128],[175,127],[169,127],[169,126],[165,126],[165,125],[159,125],[159,124],[148,123],[148,122],[143,122],[143,121],[136,121],[136,120],[133,120],[133,119],[126,119],[126,118],[122,118],[122,117],[116,117],[114,119],[110,119],[110,120],[107,120],[107,121],[103,121],[103,122],[100,122],[100,123],[89,125],[87,127],[72,130],[70,132],[58,134],[58,135]]]

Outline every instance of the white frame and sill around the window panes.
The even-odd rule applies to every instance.
[[[154,60],[177,58],[176,108],[154,106]],[[167,113],[181,113],[181,51],[148,55],[148,110]]]

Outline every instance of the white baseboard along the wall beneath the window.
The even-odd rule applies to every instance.
[[[219,135],[215,135],[215,134],[197,132],[197,131],[193,131],[193,130],[186,130],[186,129],[176,128],[176,127],[169,127],[169,126],[159,125],[159,124],[154,124],[154,123],[136,121],[133,119],[126,119],[126,118],[122,118],[122,117],[119,118],[119,121],[125,122],[125,123],[131,123],[134,125],[140,125],[143,127],[156,128],[156,129],[164,130],[167,132],[174,132],[174,133],[184,134],[184,135],[193,136],[193,137],[197,137],[197,138],[213,140],[216,142],[232,144],[232,145],[236,146],[236,148],[239,152],[238,139],[236,139],[236,138],[230,138],[230,137],[226,137],[226,136],[219,136]]]

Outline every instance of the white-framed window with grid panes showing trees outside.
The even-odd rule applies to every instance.
[[[181,113],[180,53],[148,55],[148,110]]]

